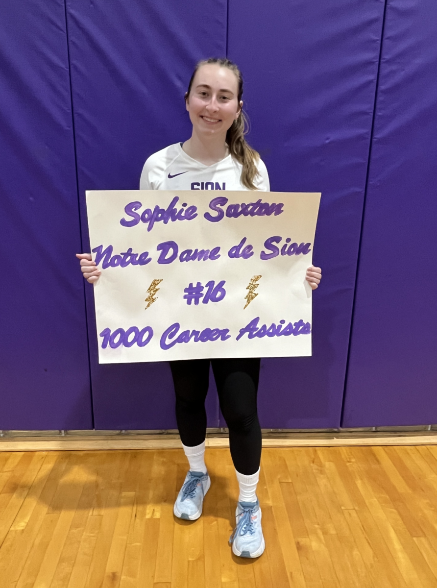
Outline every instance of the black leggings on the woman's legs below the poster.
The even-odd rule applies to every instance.
[[[205,398],[211,362],[220,408],[229,429],[233,465],[245,476],[258,472],[261,460],[261,427],[256,411],[260,361],[259,358],[245,358],[170,362],[182,443],[194,447],[205,440]]]

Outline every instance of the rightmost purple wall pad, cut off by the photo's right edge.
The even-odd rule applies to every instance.
[[[343,426],[437,422],[433,0],[389,0]]]

